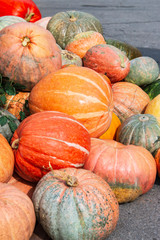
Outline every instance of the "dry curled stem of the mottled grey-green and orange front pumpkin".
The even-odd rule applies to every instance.
[[[75,176],[68,175],[65,172],[62,171],[54,171],[50,162],[49,162],[49,167],[51,169],[51,172],[55,178],[58,178],[59,180],[65,181],[67,186],[69,187],[76,187],[78,186],[78,179]]]

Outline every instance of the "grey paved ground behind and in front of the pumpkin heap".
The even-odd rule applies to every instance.
[[[126,41],[160,64],[160,0],[35,0],[42,16],[79,10],[102,23],[104,36]],[[30,240],[49,240],[40,225]],[[97,239],[98,240],[98,239]],[[160,180],[145,195],[120,205],[120,218],[108,240],[160,240]]]

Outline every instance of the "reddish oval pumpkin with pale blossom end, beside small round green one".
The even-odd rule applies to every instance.
[[[129,59],[121,50],[108,44],[91,47],[83,57],[83,64],[107,75],[112,83],[123,80],[130,70]]]

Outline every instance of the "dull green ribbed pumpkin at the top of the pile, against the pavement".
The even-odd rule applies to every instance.
[[[58,12],[47,25],[58,45],[65,49],[67,43],[78,33],[96,31],[103,34],[102,24],[92,14],[81,11]]]

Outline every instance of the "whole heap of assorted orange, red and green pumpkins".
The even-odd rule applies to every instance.
[[[0,238],[106,239],[160,175],[159,66],[91,14],[0,4]]]

